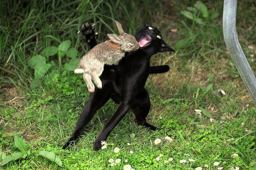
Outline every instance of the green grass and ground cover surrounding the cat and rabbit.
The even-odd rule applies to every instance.
[[[256,108],[223,41],[223,4],[202,2],[220,14],[205,25],[181,14],[196,1],[2,1],[0,161],[3,155],[17,152],[14,136],[23,137],[32,153],[0,169],[123,169],[126,164],[134,169],[255,169]],[[238,2],[237,32],[255,71],[255,3],[249,2]],[[70,60],[66,56],[61,64],[57,55],[47,58],[47,63],[55,64],[39,80],[28,60],[66,40],[81,58],[86,45],[84,37],[76,34],[80,26],[95,22],[98,41],[102,42],[107,33],[117,31],[114,19],[130,34],[135,34],[143,22],[154,25],[175,49],[175,53],[151,58],[152,65],[168,64],[170,71],[150,75],[146,84],[151,100],[148,122],[161,130],[151,132],[138,126],[130,111],[109,135],[107,149],[92,151],[95,137],[117,108],[110,100],[86,127],[81,140],[63,151],[61,147],[88,99],[86,85],[80,75],[64,70]],[[195,112],[199,108],[201,115]],[[165,136],[173,141],[165,140]],[[155,144],[158,138],[162,142]],[[114,153],[116,147],[118,153]],[[38,156],[40,151],[56,153],[62,166]],[[160,153],[163,157],[157,161]],[[238,157],[232,158],[233,153]],[[112,167],[110,158],[119,158],[121,163]],[[173,160],[165,163],[169,158]],[[182,159],[187,163],[181,164]],[[215,161],[219,166],[213,165]]]

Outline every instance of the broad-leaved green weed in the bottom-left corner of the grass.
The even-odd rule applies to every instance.
[[[29,145],[26,144],[26,142],[21,137],[18,137],[18,136],[14,137],[14,145],[19,150],[19,152],[14,152],[11,155],[6,156],[1,151],[1,155],[0,155],[1,156],[0,158],[2,159],[1,166],[4,166],[5,164],[10,163],[10,161],[14,161],[17,159],[25,159],[31,155],[31,149]],[[45,157],[53,161],[54,163],[58,164],[59,166],[62,165],[60,158],[56,156],[55,153],[53,152],[39,151],[37,156]]]

